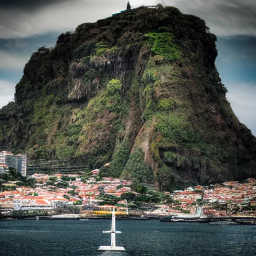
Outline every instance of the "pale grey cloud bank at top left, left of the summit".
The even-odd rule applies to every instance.
[[[125,7],[126,0],[55,0],[40,7],[6,4],[0,7],[0,38],[74,30],[80,23],[96,21]]]

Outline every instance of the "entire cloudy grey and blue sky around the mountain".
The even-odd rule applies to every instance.
[[[31,53],[58,34],[126,7],[127,0],[0,0],[0,107]],[[130,0],[133,7],[162,0]],[[256,135],[256,0],[164,0],[203,18],[218,38],[216,66],[239,118]]]

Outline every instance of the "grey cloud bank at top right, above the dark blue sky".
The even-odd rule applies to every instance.
[[[165,3],[201,17],[217,35],[256,35],[255,0],[165,0]]]

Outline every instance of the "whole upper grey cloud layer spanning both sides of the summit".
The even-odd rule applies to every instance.
[[[1,0],[0,38],[74,30],[126,7],[127,0]],[[162,0],[130,0],[133,7]],[[184,13],[203,18],[217,35],[256,35],[254,0],[164,0]]]

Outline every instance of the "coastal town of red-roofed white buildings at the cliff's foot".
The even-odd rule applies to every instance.
[[[104,167],[109,165],[106,163]],[[25,216],[25,213],[99,216],[110,213],[114,205],[120,214],[158,217],[192,214],[198,205],[204,216],[255,216],[256,212],[253,178],[188,186],[172,192],[160,192],[153,184],[134,185],[130,180],[102,177],[100,169],[78,174],[34,173],[26,181],[29,185],[21,180],[0,179],[1,217]]]

